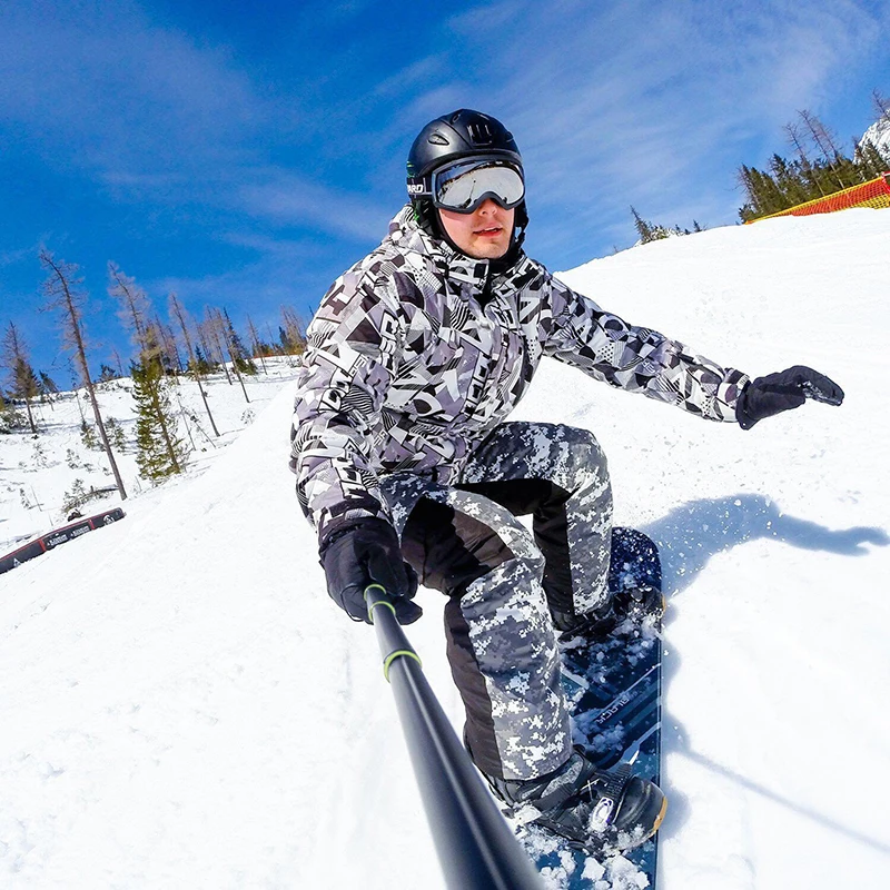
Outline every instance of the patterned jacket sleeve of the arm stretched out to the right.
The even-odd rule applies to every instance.
[[[695,355],[656,330],[629,325],[552,276],[550,287],[553,314],[544,332],[545,355],[705,419],[736,422],[746,374]]]

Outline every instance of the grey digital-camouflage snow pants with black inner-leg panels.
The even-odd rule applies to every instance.
[[[606,597],[612,492],[596,439],[507,423],[456,485],[397,473],[383,490],[405,560],[448,595],[448,661],[476,765],[503,779],[556,769],[572,733],[552,613],[587,612]],[[533,534],[516,520],[528,514]]]

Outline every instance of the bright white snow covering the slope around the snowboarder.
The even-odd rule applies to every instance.
[[[561,276],[715,360],[807,364],[847,393],[745,433],[547,363],[515,415],[594,431],[616,522],[662,547],[661,890],[887,883],[888,245],[890,212],[848,210]],[[211,390],[228,444],[186,478],[0,576],[3,888],[444,886],[374,634],[329,602],[296,504],[293,384],[248,386],[251,424]],[[23,478],[51,527],[78,441],[60,423],[41,438],[59,464],[24,473],[31,439],[0,437],[0,535],[41,531]],[[459,726],[443,602],[418,597],[408,635]]]

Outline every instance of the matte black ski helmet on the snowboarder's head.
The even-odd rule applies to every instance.
[[[422,224],[428,226],[434,235],[442,236],[438,215],[429,195],[429,175],[461,158],[491,156],[493,160],[507,160],[522,167],[522,155],[513,134],[496,118],[458,108],[451,115],[443,115],[424,127],[408,151],[407,188],[408,197]],[[425,191],[426,196],[418,196]],[[514,225],[518,235],[514,241],[521,244],[528,214],[525,201],[516,207]]]

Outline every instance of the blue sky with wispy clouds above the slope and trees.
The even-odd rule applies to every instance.
[[[172,290],[261,332],[281,304],[310,316],[403,204],[416,132],[455,108],[513,130],[526,248],[557,270],[633,244],[630,205],[734,224],[736,169],[791,154],[798,109],[849,144],[890,92],[887,2],[253,6],[0,3],[0,325],[60,385],[41,246],[81,268],[98,368],[129,354],[108,260],[164,315]]]

